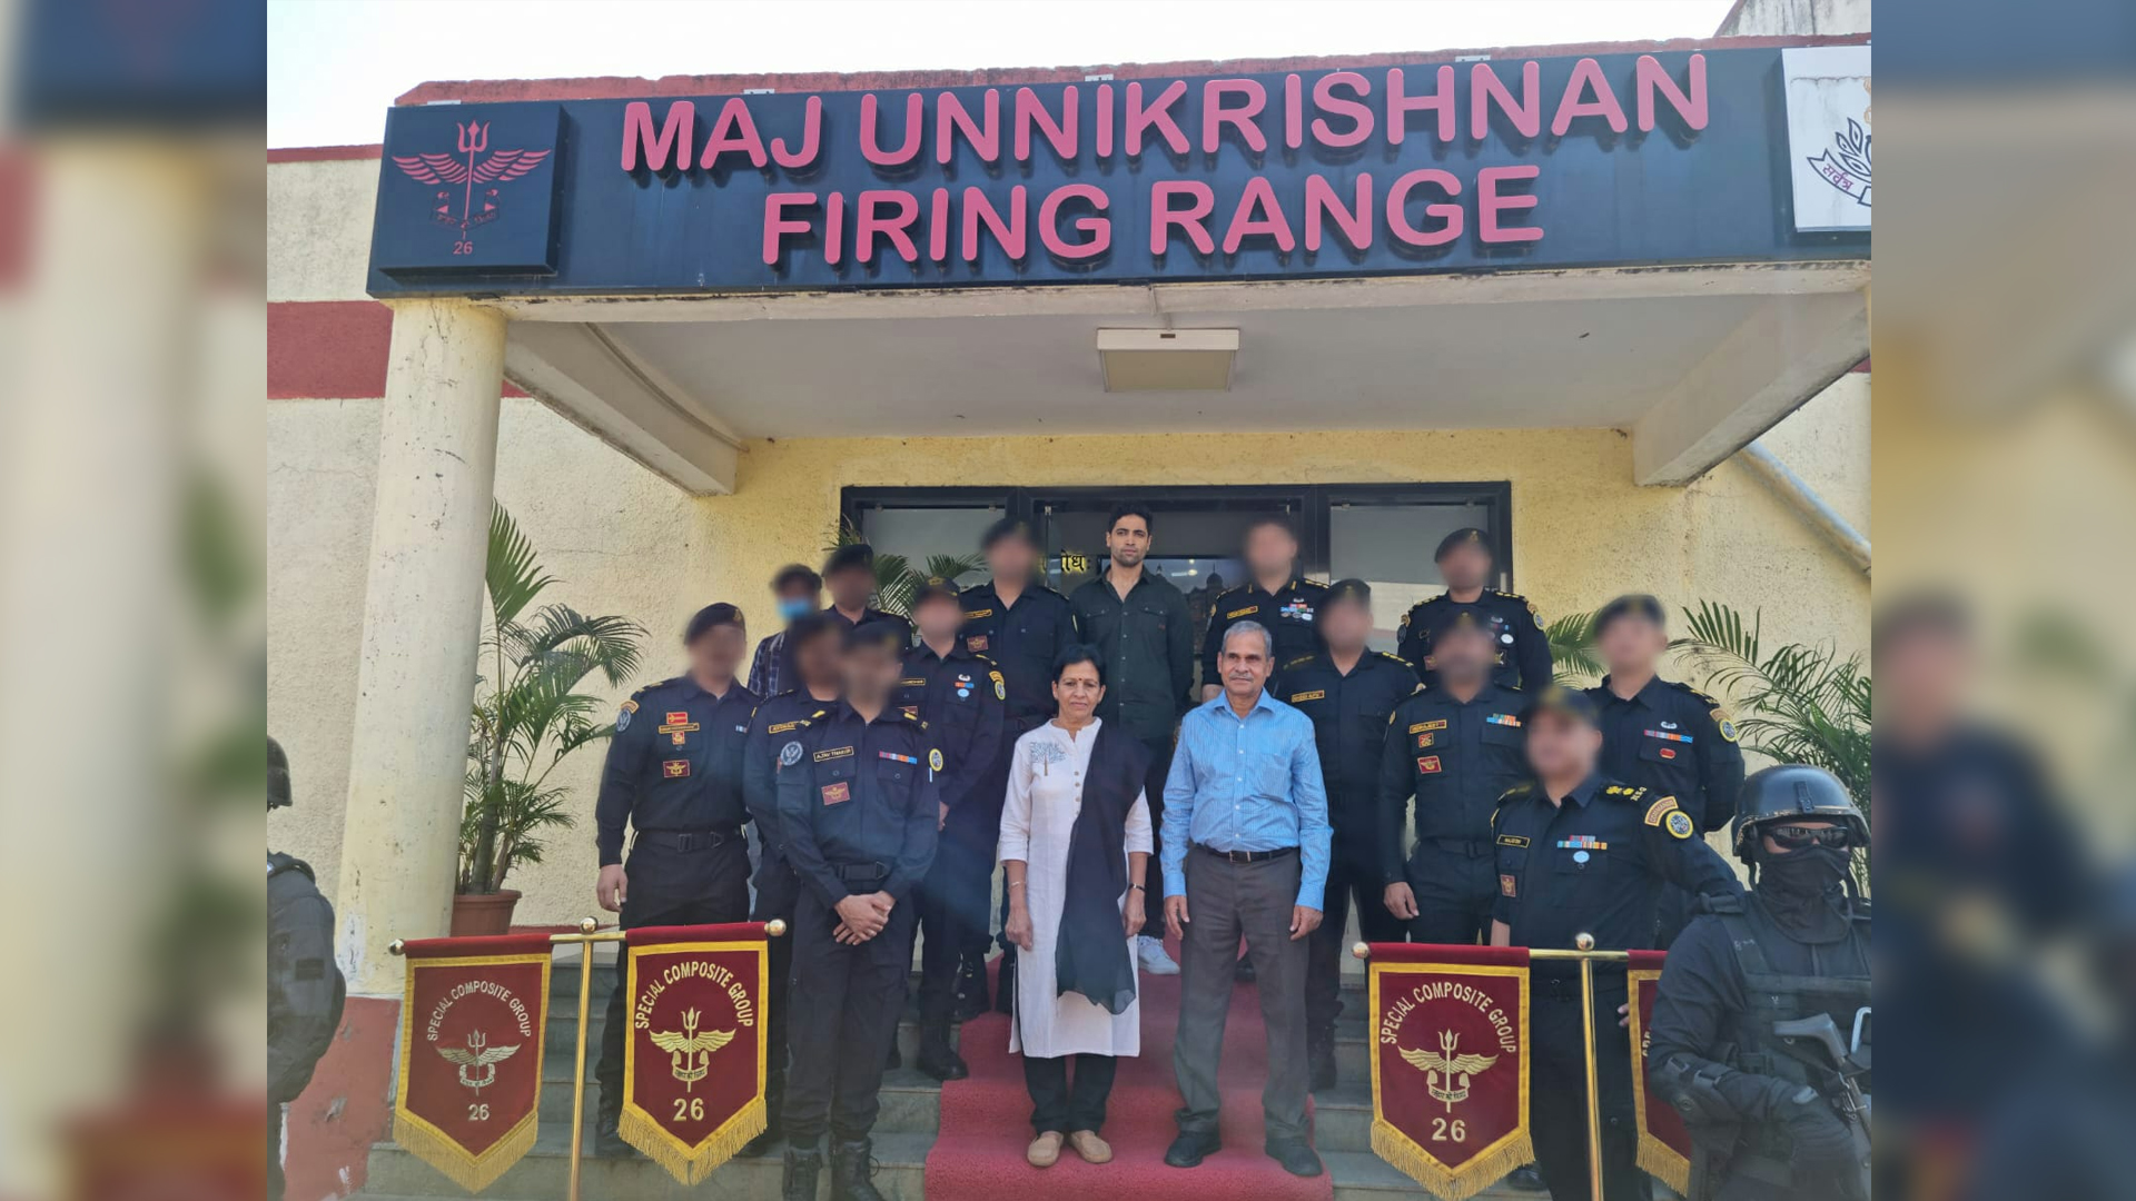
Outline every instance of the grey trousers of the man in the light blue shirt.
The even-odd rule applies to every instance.
[[[1269,1139],[1305,1137],[1305,949],[1290,940],[1290,908],[1299,902],[1297,855],[1232,863],[1188,848],[1188,927],[1179,949],[1179,1128],[1215,1133],[1215,1069],[1224,1051],[1239,936],[1260,987],[1260,1019],[1269,1028],[1269,1086],[1260,1092]]]

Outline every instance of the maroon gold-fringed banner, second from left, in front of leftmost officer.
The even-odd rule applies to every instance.
[[[696,1184],[765,1128],[765,923],[624,936],[630,1026],[622,1135]]]

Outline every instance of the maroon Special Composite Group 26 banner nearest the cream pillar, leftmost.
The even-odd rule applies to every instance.
[[[534,1145],[549,936],[404,942],[393,1141],[470,1192]]]

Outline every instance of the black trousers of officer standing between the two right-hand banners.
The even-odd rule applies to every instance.
[[[1534,1071],[1529,1116],[1536,1165],[1553,1201],[1587,1201],[1587,1047],[1581,1032],[1581,981],[1574,972],[1538,974],[1534,981]],[[1632,1043],[1617,1026],[1623,972],[1596,972],[1596,1083],[1602,1101],[1602,1197],[1653,1201],[1653,1182],[1638,1167],[1638,1126],[1632,1120]]]

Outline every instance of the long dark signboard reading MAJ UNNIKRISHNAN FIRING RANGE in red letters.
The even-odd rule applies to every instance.
[[[370,291],[1860,259],[1790,218],[1781,53],[397,107]]]

